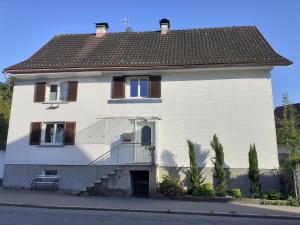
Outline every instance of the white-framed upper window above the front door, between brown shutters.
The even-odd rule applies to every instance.
[[[129,78],[129,94],[130,98],[147,98],[149,96],[149,80],[148,78]]]

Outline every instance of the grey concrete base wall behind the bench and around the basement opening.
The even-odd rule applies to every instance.
[[[60,175],[59,189],[81,190],[90,186],[98,178],[108,176],[116,166],[63,166],[63,165],[37,165],[37,164],[8,164],[5,166],[5,179],[3,185],[11,188],[30,188],[32,180],[36,175],[40,175],[44,170],[57,170]],[[128,195],[132,193],[130,171],[149,171],[149,193],[155,192],[156,169],[153,166],[123,166],[121,174],[118,175],[113,189],[126,191]]]

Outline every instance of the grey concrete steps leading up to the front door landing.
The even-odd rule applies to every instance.
[[[100,177],[93,184],[79,191],[78,195],[128,196],[129,193],[126,190],[116,188],[122,172],[123,167],[113,169],[106,176]]]

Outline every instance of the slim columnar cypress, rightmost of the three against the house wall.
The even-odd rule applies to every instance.
[[[248,177],[250,179],[250,193],[252,197],[256,197],[260,194],[261,184],[259,182],[260,174],[258,169],[257,152],[254,144],[250,145],[248,157],[249,157]]]

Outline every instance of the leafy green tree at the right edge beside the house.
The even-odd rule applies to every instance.
[[[277,142],[280,147],[289,151],[291,157],[300,150],[300,134],[297,128],[297,111],[290,103],[287,93],[282,96],[283,114],[282,118],[276,118],[278,123]]]

